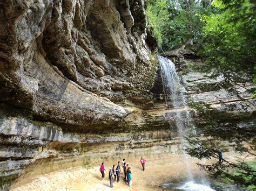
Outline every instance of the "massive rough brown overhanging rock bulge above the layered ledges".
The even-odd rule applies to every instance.
[[[102,97],[152,85],[143,1],[6,1],[0,28],[0,99],[41,120],[112,124],[131,111]]]

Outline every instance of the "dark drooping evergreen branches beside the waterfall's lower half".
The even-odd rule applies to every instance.
[[[250,153],[247,147],[242,145],[243,142],[249,142],[252,147],[255,147],[255,142],[251,141],[256,134],[254,126],[241,128],[238,125],[240,122],[251,121],[253,117],[253,114],[246,112],[246,107],[243,108],[244,114],[219,111],[206,103],[193,103],[190,107],[197,110],[198,119],[195,121],[197,132],[204,135],[204,139],[195,135],[187,138],[190,146],[186,148],[186,152],[192,157],[216,158],[218,160],[217,148],[223,147],[221,143],[224,142],[232,142],[234,150],[238,153]],[[226,183],[238,183],[243,187],[256,185],[254,162],[252,164],[246,162],[234,164],[225,160],[224,164],[217,162],[211,165],[198,165],[201,169],[210,172],[214,178],[223,177],[222,180]]]

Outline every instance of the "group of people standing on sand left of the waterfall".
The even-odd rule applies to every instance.
[[[145,159],[140,158],[140,164],[142,164],[143,171],[145,171]],[[129,166],[129,163],[126,163],[125,159],[122,161],[122,168],[124,172],[124,180],[129,185],[132,187],[132,173],[131,173],[131,167]],[[105,173],[106,171],[104,167],[104,162],[102,162],[102,165],[99,168],[100,173],[102,173],[102,180],[104,180]],[[121,166],[120,166],[120,161],[118,161],[117,167],[116,165],[113,165],[112,169],[109,169],[109,181],[110,181],[110,187],[113,188],[113,182],[119,182],[120,181],[120,175],[121,175]],[[113,178],[114,175],[114,178]]]

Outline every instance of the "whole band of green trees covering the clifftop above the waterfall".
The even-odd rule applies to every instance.
[[[205,61],[195,69],[232,84],[252,82],[253,77],[255,83],[255,14],[252,0],[150,0],[147,7],[163,51],[186,45]]]

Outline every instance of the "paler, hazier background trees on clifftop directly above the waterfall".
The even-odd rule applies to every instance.
[[[164,51],[200,41],[203,23],[199,15],[209,15],[211,1],[151,0],[147,2],[147,18]]]

